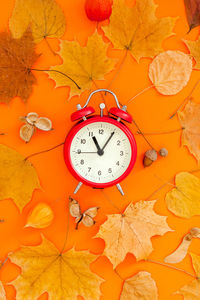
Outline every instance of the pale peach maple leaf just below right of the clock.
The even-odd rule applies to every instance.
[[[105,241],[104,254],[114,268],[129,252],[134,254],[137,260],[147,258],[153,250],[151,237],[171,231],[166,217],[154,212],[155,202],[131,203],[123,214],[108,215],[108,220],[100,226],[96,237]]]

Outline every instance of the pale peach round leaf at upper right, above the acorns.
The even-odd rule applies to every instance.
[[[162,95],[175,95],[188,83],[192,59],[181,51],[165,51],[153,59],[149,78]]]

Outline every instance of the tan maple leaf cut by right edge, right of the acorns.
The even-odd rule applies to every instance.
[[[200,161],[200,104],[189,101],[184,110],[178,112],[178,118],[183,128],[182,145]]]

